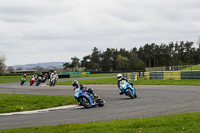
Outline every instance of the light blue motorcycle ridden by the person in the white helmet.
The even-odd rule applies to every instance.
[[[125,80],[120,82],[120,90],[126,95],[129,96],[130,98],[134,99],[137,97],[136,95],[136,89],[134,88],[133,85],[130,83],[126,82]]]

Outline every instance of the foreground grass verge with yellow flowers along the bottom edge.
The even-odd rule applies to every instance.
[[[0,133],[199,133],[200,112],[1,130]]]

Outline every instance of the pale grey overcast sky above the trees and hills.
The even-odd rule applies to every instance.
[[[11,66],[82,60],[94,47],[197,47],[199,14],[199,0],[0,0],[0,54]]]

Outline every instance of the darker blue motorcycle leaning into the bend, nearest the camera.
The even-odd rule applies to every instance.
[[[74,98],[80,103],[81,106],[85,108],[90,108],[93,106],[104,106],[105,101],[93,93],[92,89],[75,89]]]

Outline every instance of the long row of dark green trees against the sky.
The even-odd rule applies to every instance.
[[[107,48],[105,51],[97,47],[90,55],[80,60],[71,58],[72,62],[63,64],[64,69],[77,71],[82,67],[88,71],[134,71],[145,67],[189,65],[200,63],[200,49],[193,47],[193,42],[170,42],[169,44],[145,44],[126,50],[124,48]]]

